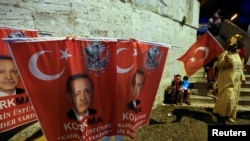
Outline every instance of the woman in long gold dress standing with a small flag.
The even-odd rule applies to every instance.
[[[242,36],[233,35],[225,47],[225,51],[218,57],[217,88],[218,98],[213,113],[218,117],[219,124],[226,120],[235,122],[241,84],[245,84],[245,76],[237,49],[243,47]]]

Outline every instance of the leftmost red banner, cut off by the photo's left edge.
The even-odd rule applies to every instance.
[[[36,30],[0,27],[0,140],[25,140],[24,131],[37,123],[14,60],[2,38],[37,37]],[[19,54],[20,55],[20,54]],[[20,134],[22,132],[22,136]],[[36,130],[27,131],[32,134]]]

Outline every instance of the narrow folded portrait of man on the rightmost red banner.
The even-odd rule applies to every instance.
[[[137,69],[136,72],[132,76],[132,94],[133,94],[133,100],[128,103],[128,109],[132,111],[137,111],[136,106],[141,103],[137,97],[140,94],[140,91],[144,85],[145,81],[145,75],[144,72],[140,69]]]

